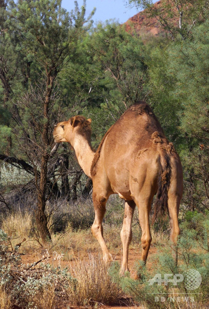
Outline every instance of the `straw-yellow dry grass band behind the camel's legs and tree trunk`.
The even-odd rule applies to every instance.
[[[103,223],[104,226],[104,238],[106,240],[108,248],[111,250],[113,255],[119,254],[121,252],[122,243],[120,232],[122,228],[122,224],[109,224]],[[24,237],[26,237],[27,241],[24,243],[20,252],[30,253],[35,250],[39,250],[39,244],[35,241],[36,236],[30,235],[32,229],[32,217],[30,214],[26,213],[9,215],[2,222],[2,229],[6,231],[6,233],[14,237],[15,239],[11,239],[11,243],[13,246],[19,241],[16,238],[19,237],[20,241]],[[93,237],[91,228],[86,229],[73,229],[70,223],[66,227],[66,232],[53,233],[52,237],[52,246],[49,244],[47,247],[50,249],[52,247],[53,251],[64,254],[64,260],[70,261],[75,260],[75,256],[80,257],[83,260],[87,256],[87,252],[101,252],[100,245],[98,241]],[[138,222],[135,222],[132,227],[133,237],[132,242],[129,246],[130,249],[136,249],[141,247],[141,228]],[[160,231],[154,231],[151,228],[152,235],[152,247],[158,245],[164,245],[166,241],[169,239],[169,235]],[[38,247],[37,247],[38,246]],[[43,248],[42,248],[43,249]]]

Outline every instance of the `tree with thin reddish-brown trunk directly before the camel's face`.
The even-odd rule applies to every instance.
[[[81,11],[75,2],[75,11],[71,14],[61,8],[61,0],[19,0],[12,9],[12,15],[17,20],[13,31],[18,33],[31,74],[27,91],[15,98],[20,122],[11,122],[10,127],[16,138],[14,148],[33,168],[38,200],[36,224],[43,243],[51,239],[45,206],[54,108],[57,107],[55,98],[59,91],[55,81],[75,56],[76,42],[80,34],[90,27],[93,13],[85,18],[85,1]],[[85,23],[88,25],[84,26]],[[53,184],[51,186],[54,187]]]

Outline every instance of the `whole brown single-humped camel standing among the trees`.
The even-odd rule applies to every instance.
[[[136,205],[142,230],[141,259],[146,263],[152,240],[149,214],[155,194],[153,222],[158,215],[168,211],[170,240],[176,246],[180,234],[178,213],[183,191],[182,166],[154,112],[143,101],[124,112],[107,131],[96,151],[91,146],[91,134],[91,119],[80,115],[59,122],[53,132],[56,143],[68,142],[74,148],[80,167],[92,179],[95,210],[92,234],[99,241],[106,262],[113,260],[113,256],[103,237],[105,204],[110,194],[117,193],[125,200],[121,230],[121,274],[124,274],[129,271],[128,250]]]

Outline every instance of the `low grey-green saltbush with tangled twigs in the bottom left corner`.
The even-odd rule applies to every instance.
[[[71,277],[68,269],[45,264],[44,257],[30,265],[22,264],[18,253],[20,245],[12,248],[10,238],[0,230],[0,290],[10,295],[14,305],[26,309],[43,307],[40,303],[43,296],[48,297],[46,309],[57,305],[60,299],[62,303],[68,300],[69,290],[76,287],[76,279]],[[49,291],[48,295],[46,291]]]

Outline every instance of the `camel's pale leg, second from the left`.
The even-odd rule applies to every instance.
[[[121,265],[122,275],[125,273],[125,271],[129,271],[128,254],[129,254],[129,244],[132,239],[131,223],[135,206],[136,204],[134,201],[125,201],[125,213],[123,219],[123,227],[121,230],[121,241],[123,244],[123,260]]]

